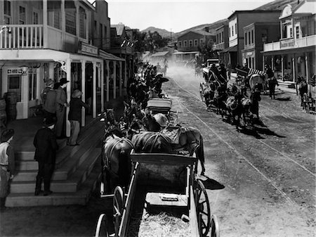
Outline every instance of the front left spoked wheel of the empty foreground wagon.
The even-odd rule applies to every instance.
[[[121,224],[121,215],[123,214],[124,205],[124,191],[120,186],[114,189],[113,196],[113,217],[114,217],[114,229],[116,236],[119,234],[119,225]]]

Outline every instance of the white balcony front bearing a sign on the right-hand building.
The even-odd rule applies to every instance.
[[[277,42],[272,42],[263,45],[263,51],[279,51],[282,49],[298,49],[316,45],[316,34],[300,39],[281,39]]]

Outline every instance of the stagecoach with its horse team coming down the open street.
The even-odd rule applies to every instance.
[[[212,65],[204,70],[204,82],[200,84],[200,93],[206,107],[216,110],[217,114],[239,127],[253,127],[259,120],[259,101],[261,101],[260,84],[254,84],[250,96],[246,87],[228,84],[225,74]],[[256,116],[254,116],[256,115]]]

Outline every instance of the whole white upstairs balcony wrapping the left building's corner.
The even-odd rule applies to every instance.
[[[1,49],[54,49],[77,52],[79,41],[88,39],[44,25],[0,25]]]

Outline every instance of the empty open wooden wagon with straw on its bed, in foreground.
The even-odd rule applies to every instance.
[[[209,231],[211,237],[219,236],[218,219],[211,215],[206,189],[197,179],[197,158],[132,151],[131,160],[128,192],[114,190],[115,236],[206,236]],[[96,236],[107,236],[107,222],[101,214]]]

